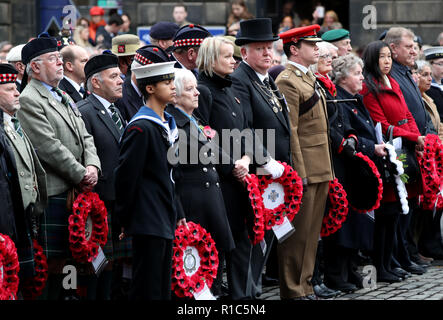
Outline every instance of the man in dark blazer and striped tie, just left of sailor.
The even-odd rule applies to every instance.
[[[102,166],[94,191],[105,202],[108,211],[108,241],[103,248],[106,258],[113,261],[113,237],[118,241],[120,228],[112,228],[114,211],[114,168],[117,166],[118,142],[123,132],[123,120],[114,102],[122,97],[123,80],[120,78],[118,58],[112,53],[92,57],[85,65],[87,90],[91,94],[78,103],[86,130],[93,136]],[[114,219],[112,219],[114,220]],[[110,300],[113,263],[109,263],[100,276],[86,277],[87,298]]]

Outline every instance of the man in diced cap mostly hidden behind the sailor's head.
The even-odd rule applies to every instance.
[[[154,45],[147,45],[136,51],[131,68],[167,61],[169,61],[169,57],[163,49]],[[120,110],[123,119],[128,122],[134,114],[138,112],[140,107],[144,105],[142,94],[137,87],[137,79],[134,74],[131,74],[130,78],[125,79],[123,83],[123,97],[119,99],[115,105]]]

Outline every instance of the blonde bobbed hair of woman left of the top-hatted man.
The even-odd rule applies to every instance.
[[[232,41],[222,36],[207,37],[203,40],[198,51],[197,67],[199,71],[204,71],[212,77],[214,73],[214,64],[220,57],[220,47],[223,43],[229,44],[234,48]]]

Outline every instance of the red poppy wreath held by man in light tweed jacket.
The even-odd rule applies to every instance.
[[[80,263],[92,262],[108,236],[107,210],[97,193],[80,193],[69,216],[69,248]]]

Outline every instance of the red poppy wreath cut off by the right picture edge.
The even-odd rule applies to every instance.
[[[442,209],[443,143],[437,135],[426,136],[423,157],[419,158],[419,164],[423,177],[422,208],[425,210]]]

